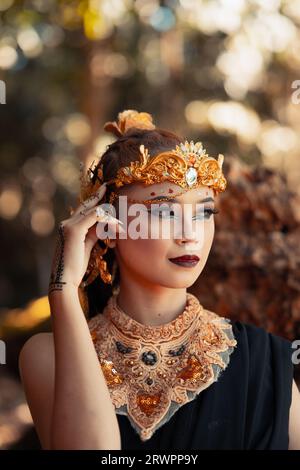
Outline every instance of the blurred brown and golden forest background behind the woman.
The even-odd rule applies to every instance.
[[[201,303],[300,338],[299,79],[300,0],[0,1],[0,449],[39,448],[18,353],[50,330],[57,224],[124,109],[225,154]]]

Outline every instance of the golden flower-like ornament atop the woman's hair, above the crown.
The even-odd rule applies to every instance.
[[[131,127],[138,129],[155,129],[151,114],[139,113],[135,109],[126,109],[125,111],[118,113],[117,121],[106,122],[103,129],[115,134],[117,137],[121,137]]]

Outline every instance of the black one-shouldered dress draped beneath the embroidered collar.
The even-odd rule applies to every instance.
[[[247,323],[231,324],[237,347],[219,379],[148,441],[118,414],[122,450],[288,449],[291,342]]]

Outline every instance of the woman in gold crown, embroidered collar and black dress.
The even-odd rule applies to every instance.
[[[223,156],[148,113],[126,110],[104,128],[118,139],[59,228],[53,333],[20,354],[42,447],[300,449],[290,342],[187,291],[212,246]]]

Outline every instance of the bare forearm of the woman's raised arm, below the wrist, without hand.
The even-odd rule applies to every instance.
[[[114,405],[77,289],[51,296],[55,344],[52,449],[121,449]]]

